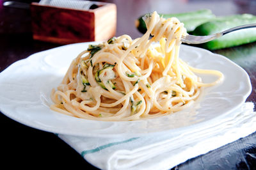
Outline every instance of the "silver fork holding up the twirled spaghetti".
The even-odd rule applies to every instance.
[[[226,35],[227,33],[231,33],[232,31],[237,31],[239,29],[250,28],[250,27],[256,27],[256,24],[246,24],[246,25],[243,25],[243,26],[232,27],[232,28],[227,29],[225,31],[222,31],[220,33],[216,33],[214,35],[207,35],[207,36],[186,35],[186,36],[181,36],[181,42],[193,43],[193,44],[205,43],[205,42],[209,42],[211,40],[214,40],[215,38],[218,38],[220,36]]]

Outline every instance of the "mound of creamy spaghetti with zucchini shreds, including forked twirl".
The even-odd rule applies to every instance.
[[[90,120],[153,118],[189,107],[201,87],[221,82],[221,72],[193,68],[179,58],[180,37],[186,35],[179,20],[154,12],[145,22],[148,31],[141,38],[114,37],[81,52],[52,90],[51,109]],[[195,73],[219,79],[205,84]]]

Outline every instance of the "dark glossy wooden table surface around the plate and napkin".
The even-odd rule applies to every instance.
[[[60,46],[33,40],[29,10],[4,8],[3,2],[0,0],[0,72],[13,62],[27,58],[35,52]],[[31,1],[24,2],[31,3]],[[116,0],[108,2],[116,3],[118,8],[116,36],[127,34],[132,38],[141,36],[134,27],[134,20],[153,10],[159,13],[177,13],[208,8],[216,15],[256,14],[256,1],[246,0]],[[248,72],[253,91],[247,101],[256,104],[256,43],[214,52],[230,58]],[[54,134],[27,127],[4,114],[0,114],[0,129],[2,157],[0,167],[96,169]],[[191,158],[173,169],[256,169],[256,133],[205,155]]]

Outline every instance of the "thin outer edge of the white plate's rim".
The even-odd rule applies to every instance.
[[[63,48],[65,49],[67,47],[72,47],[72,46],[81,45],[81,44],[86,45],[86,44],[89,44],[89,43],[97,43],[97,42],[74,43],[74,44],[70,44],[70,45],[63,45],[61,47],[56,47],[54,49],[44,50],[42,52],[37,52],[35,54],[32,54],[31,56],[29,56],[26,59],[21,59],[19,61],[16,61],[12,65],[8,66],[8,68],[3,70],[3,72],[0,73],[0,81],[1,81],[1,75],[6,74],[6,72],[8,73],[9,70],[13,69],[13,67],[15,67],[16,65],[23,64],[24,62],[29,61],[30,59],[33,59],[33,58],[38,57],[38,56],[42,56],[44,54],[49,54],[49,52],[52,52],[52,51],[55,51],[55,50],[61,50]],[[203,122],[196,123],[196,124],[193,124],[193,125],[189,125],[189,126],[186,126],[186,127],[179,127],[179,128],[169,129],[169,130],[162,130],[162,131],[159,131],[159,132],[135,133],[135,134],[134,133],[126,133],[126,134],[90,134],[90,133],[72,132],[72,130],[71,131],[61,130],[60,128],[52,129],[52,128],[42,127],[40,125],[33,124],[33,123],[31,123],[31,121],[26,120],[26,118],[24,119],[24,118],[20,118],[19,116],[15,116],[15,114],[13,114],[12,112],[6,112],[6,110],[3,109],[1,107],[1,105],[0,105],[0,111],[4,115],[8,116],[9,118],[12,118],[15,121],[18,121],[19,123],[22,123],[22,124],[27,125],[29,127],[36,128],[38,130],[44,130],[46,132],[53,132],[53,133],[57,133],[57,134],[67,134],[67,135],[90,136],[90,137],[120,137],[121,135],[122,136],[142,136],[142,135],[156,134],[156,133],[166,133],[166,132],[175,132],[175,133],[184,132],[184,130],[188,130],[188,128],[190,128],[190,129],[191,128],[196,128],[198,126],[204,126],[205,124],[210,123],[212,121],[217,121],[218,119],[222,118],[223,116],[227,116],[228,113],[234,111],[235,109],[237,109],[237,107],[239,107],[241,104],[243,104],[243,102],[245,102],[246,98],[250,95],[250,93],[252,91],[252,85],[251,85],[250,78],[249,78],[248,74],[246,73],[245,70],[243,70],[243,68],[238,66],[236,63],[230,61],[228,58],[225,58],[224,56],[221,56],[220,54],[214,54],[209,50],[201,49],[201,48],[198,48],[198,47],[191,47],[191,46],[188,46],[188,45],[182,45],[182,48],[196,50],[196,51],[199,51],[199,52],[200,51],[201,52],[206,52],[209,55],[218,56],[219,58],[222,58],[222,59],[226,60],[227,62],[232,63],[232,65],[236,66],[237,68],[239,68],[240,71],[243,72],[244,75],[246,75],[246,84],[248,86],[248,89],[247,89],[246,93],[243,94],[243,98],[241,98],[241,100],[239,100],[239,102],[238,102],[239,104],[232,107],[229,111],[223,112],[223,114],[221,114],[220,116],[217,116],[217,117],[215,117],[211,120],[203,121]],[[86,121],[93,121],[93,120],[86,120]],[[145,121],[145,120],[138,120],[137,122],[140,122],[140,121]],[[104,121],[102,121],[102,122],[104,122]],[[119,123],[122,123],[122,121],[119,121]]]

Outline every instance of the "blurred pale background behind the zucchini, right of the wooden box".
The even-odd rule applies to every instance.
[[[215,2],[214,5],[212,1]],[[217,16],[244,12],[256,14],[256,0],[113,0],[111,2],[116,4],[117,14],[122,13],[117,15],[116,34],[128,34],[132,38],[141,36],[134,27],[134,20],[148,12],[182,13],[209,9]]]

